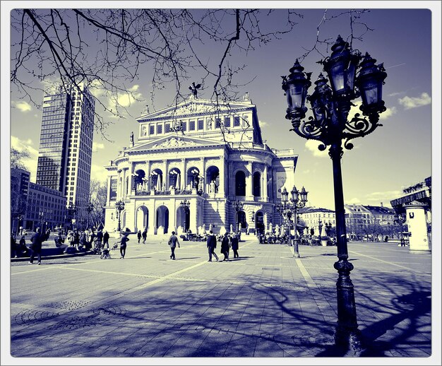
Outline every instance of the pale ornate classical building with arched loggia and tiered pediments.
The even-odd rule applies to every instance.
[[[293,187],[297,155],[265,144],[247,96],[224,105],[189,98],[137,121],[137,141],[131,134],[105,167],[107,230],[117,228],[117,201],[124,202],[121,228],[150,235],[222,234],[237,225],[254,232],[279,223],[275,203],[279,189]]]

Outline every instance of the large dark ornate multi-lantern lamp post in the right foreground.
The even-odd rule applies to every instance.
[[[347,235],[345,232],[344,194],[342,191],[341,156],[342,140],[347,150],[353,148],[350,140],[364,137],[373,132],[379,124],[379,114],[386,111],[382,100],[382,85],[387,76],[383,64],[376,65],[368,53],[362,57],[359,51],[350,48],[348,42],[339,36],[331,47],[332,54],[318,61],[328,80],[319,74],[313,94],[307,95],[311,85],[311,73],[304,73],[304,67],[296,60],[289,76],[282,76],[282,89],[287,95],[287,119],[291,120],[296,134],[307,139],[320,141],[319,150],[330,146],[328,155],[333,163],[333,185],[335,191],[336,232],[338,237],[338,271],[336,283],[338,298],[338,324],[335,329],[335,344],[361,349],[361,333],[358,329],[354,287],[350,279],[353,265],[347,260]],[[362,61],[361,61],[362,60]],[[360,62],[360,63],[359,63]],[[357,73],[358,72],[358,73]],[[362,98],[359,113],[348,120],[352,100]],[[311,103],[313,117],[307,121],[306,100]]]

